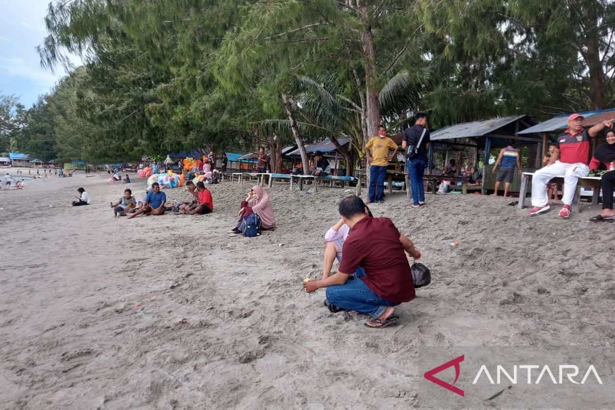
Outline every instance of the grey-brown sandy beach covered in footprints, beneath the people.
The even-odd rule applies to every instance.
[[[433,282],[398,325],[368,329],[301,286],[322,270],[346,189],[274,184],[277,229],[229,238],[250,184],[208,186],[210,215],[127,220],[109,208],[126,186],[107,177],[0,191],[2,409],[421,408],[420,347],[615,342],[615,224],[588,223],[587,203],[561,220],[516,199],[429,194],[407,210],[405,193],[387,195],[371,210],[415,242]],[[81,186],[92,203],[66,207]],[[137,199],[145,186],[129,185]]]

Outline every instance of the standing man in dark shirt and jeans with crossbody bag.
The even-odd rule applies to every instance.
[[[427,116],[423,112],[417,112],[415,115],[415,125],[404,130],[402,140],[402,149],[405,150],[408,145],[416,147],[416,155],[412,159],[407,159],[406,163],[410,187],[412,188],[412,203],[406,208],[418,208],[425,205],[423,174],[427,164],[429,141]]]

